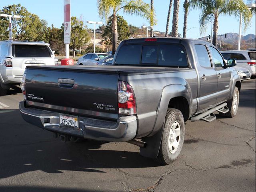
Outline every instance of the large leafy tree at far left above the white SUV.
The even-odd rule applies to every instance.
[[[12,35],[14,40],[46,40],[47,22],[40,20],[36,14],[18,5],[4,7],[1,13],[9,15],[20,15],[21,18],[12,18]],[[0,40],[8,39],[9,18],[0,17]]]

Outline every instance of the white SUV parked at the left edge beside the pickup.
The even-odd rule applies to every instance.
[[[20,84],[26,66],[55,65],[48,43],[0,41],[0,95]]]

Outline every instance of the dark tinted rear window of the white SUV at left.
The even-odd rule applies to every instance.
[[[48,46],[42,45],[12,45],[14,57],[51,57]]]

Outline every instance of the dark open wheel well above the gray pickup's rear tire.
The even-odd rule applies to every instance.
[[[175,108],[180,110],[183,115],[184,121],[186,122],[189,118],[189,105],[188,101],[184,97],[172,98],[168,104],[168,108]]]

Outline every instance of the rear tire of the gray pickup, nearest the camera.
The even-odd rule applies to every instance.
[[[170,150],[173,150],[172,152],[170,152],[169,150],[169,146],[171,146],[170,145],[171,142],[169,143],[169,136],[171,135],[170,131],[171,129],[172,130],[176,129],[176,128],[173,129],[172,125],[174,125],[173,127],[175,127],[175,124],[177,122],[178,122],[177,126],[180,126],[180,136],[178,137],[174,136],[174,138],[178,142],[178,147],[175,150],[173,150],[174,148],[170,147],[171,148]],[[168,165],[174,162],[178,158],[181,152],[183,142],[184,142],[184,137],[185,137],[185,123],[184,123],[184,118],[182,113],[178,109],[168,108],[167,114],[165,116],[165,124],[164,124],[164,130],[162,135],[162,141],[161,141],[158,156],[155,158],[155,160],[160,164],[164,164],[164,165]]]

